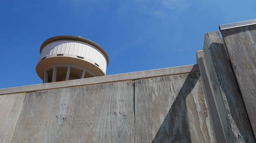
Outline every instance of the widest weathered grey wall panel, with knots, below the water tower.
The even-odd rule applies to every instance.
[[[133,81],[28,93],[11,142],[134,142],[133,98]]]

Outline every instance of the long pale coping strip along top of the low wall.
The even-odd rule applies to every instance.
[[[75,80],[60,81],[60,82],[26,85],[24,87],[0,89],[0,95],[24,93],[24,92],[28,93],[28,92],[36,92],[41,90],[77,87],[81,85],[99,84],[99,83],[116,82],[116,81],[124,81],[124,80],[136,80],[136,79],[142,79],[142,78],[151,78],[151,77],[194,73],[194,72],[199,72],[198,65],[188,65],[188,66],[180,66],[180,67],[172,67],[172,68],[164,68],[164,69],[156,69],[156,70],[147,70],[147,71],[75,79]]]

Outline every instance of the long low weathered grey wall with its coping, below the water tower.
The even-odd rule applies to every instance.
[[[197,65],[0,93],[0,142],[216,142]]]

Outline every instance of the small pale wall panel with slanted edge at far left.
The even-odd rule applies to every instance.
[[[0,142],[11,142],[25,93],[0,96]]]

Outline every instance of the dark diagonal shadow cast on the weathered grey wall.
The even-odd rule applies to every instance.
[[[193,73],[188,74],[152,143],[191,142],[186,98],[194,89],[198,79],[199,76],[195,76]]]

